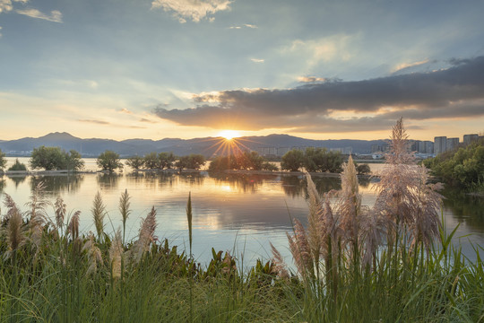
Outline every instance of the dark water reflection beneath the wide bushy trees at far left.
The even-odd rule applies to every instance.
[[[22,183],[22,180],[15,181],[15,185],[18,186]],[[33,191],[39,183],[43,183],[45,186],[45,194],[48,196],[57,196],[60,193],[76,193],[82,186],[84,180],[83,175],[58,175],[58,176],[31,176],[30,177],[30,190]]]

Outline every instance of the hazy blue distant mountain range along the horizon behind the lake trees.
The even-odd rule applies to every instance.
[[[384,144],[384,140],[314,140],[305,139],[293,135],[264,135],[246,136],[236,139],[240,146],[250,150],[263,148],[293,148],[293,147],[326,147],[326,148],[349,148],[353,153],[370,153],[372,144]],[[205,137],[194,139],[164,138],[161,140],[151,139],[127,139],[116,141],[111,139],[82,139],[68,133],[51,133],[39,138],[25,137],[16,140],[0,140],[0,149],[8,155],[30,155],[34,148],[41,145],[55,146],[65,151],[75,150],[84,157],[96,157],[99,153],[111,150],[121,156],[144,155],[151,152],[173,152],[177,155],[189,153],[203,153],[211,156],[216,153],[220,145],[224,143],[221,137]]]

